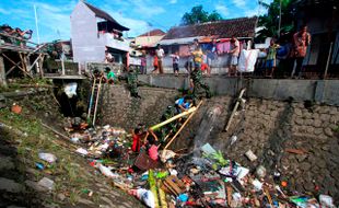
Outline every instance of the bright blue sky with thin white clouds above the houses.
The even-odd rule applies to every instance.
[[[264,0],[270,2],[271,0]],[[0,25],[33,30],[32,41],[40,43],[70,39],[70,15],[79,0],[0,0]],[[223,19],[253,16],[266,10],[256,0],[86,0],[87,3],[109,13],[130,28],[129,37],[154,28],[164,32],[180,24],[185,12],[201,4],[208,12],[217,11]]]

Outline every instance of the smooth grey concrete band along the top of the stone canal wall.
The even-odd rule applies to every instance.
[[[171,74],[139,76],[141,82],[168,89],[188,89],[187,76]],[[339,80],[279,80],[279,79],[238,79],[226,77],[204,78],[212,92],[218,95],[234,96],[239,89],[247,88],[250,97],[284,101],[314,101],[339,105]]]

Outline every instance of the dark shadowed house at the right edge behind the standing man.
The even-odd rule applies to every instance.
[[[328,65],[328,76],[339,76],[339,1],[297,0],[295,5],[296,26],[306,24],[312,35],[311,45],[304,59],[308,73],[324,76]]]

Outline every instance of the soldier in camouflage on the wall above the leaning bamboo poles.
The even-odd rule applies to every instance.
[[[194,102],[196,102],[197,93],[199,92],[201,88],[206,92],[206,97],[207,99],[211,97],[210,88],[202,81],[202,73],[198,67],[195,67],[195,69],[191,71],[190,81],[194,86],[194,91],[192,91]]]

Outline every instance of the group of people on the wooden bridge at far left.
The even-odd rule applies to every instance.
[[[12,28],[10,25],[3,24],[0,26],[0,33],[3,34],[0,35],[0,39],[2,39],[4,43],[24,47],[25,41],[32,38],[33,31],[22,31],[19,27]]]

